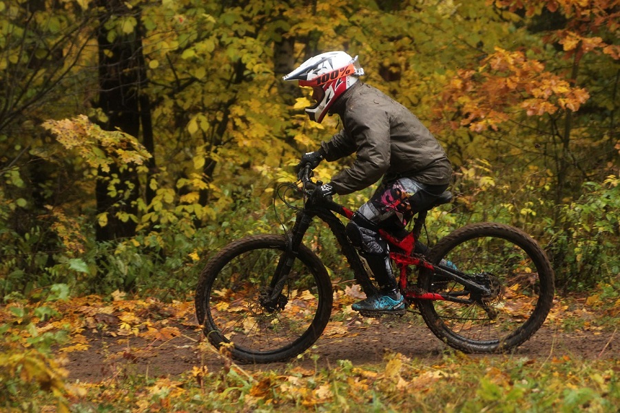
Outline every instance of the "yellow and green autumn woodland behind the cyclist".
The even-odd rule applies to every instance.
[[[544,245],[561,296],[613,308],[619,12],[612,0],[0,1],[3,392],[63,387],[48,352],[63,330],[37,332],[61,317],[47,303],[187,301],[221,245],[280,231],[276,215],[291,223],[273,188],[338,119],[311,123],[309,92],[280,79],[327,50],[358,54],[363,80],[446,148],[456,201],[433,212],[429,243],[468,222],[516,225]],[[308,243],[350,276],[326,228]]]

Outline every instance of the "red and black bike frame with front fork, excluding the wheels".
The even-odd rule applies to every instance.
[[[322,183],[318,181],[316,185],[318,188],[320,185],[322,185]],[[426,219],[426,212],[428,211],[420,212],[417,215],[413,230],[409,232],[409,234],[407,234],[403,239],[396,239],[394,236],[392,236],[388,232],[385,232],[384,230],[379,231],[380,235],[391,246],[390,257],[397,268],[399,277],[398,285],[401,293],[408,301],[445,300],[455,301],[459,303],[475,303],[475,301],[472,299],[462,299],[459,296],[451,294],[437,294],[434,292],[424,292],[409,289],[407,275],[409,273],[410,266],[413,265],[417,268],[426,268],[427,270],[431,270],[435,274],[439,274],[440,276],[442,276],[442,279],[457,281],[458,283],[464,285],[466,290],[468,292],[471,292],[472,295],[479,296],[482,294],[490,294],[490,290],[485,285],[477,283],[471,278],[471,276],[468,276],[467,274],[464,274],[459,270],[453,270],[451,268],[448,268],[444,265],[435,265],[429,262],[422,254],[417,254],[414,252],[415,240],[420,234],[420,229],[422,228],[422,225],[424,225],[424,220]],[[378,294],[378,290],[375,285],[373,285],[368,270],[366,270],[366,267],[362,263],[362,259],[360,259],[358,251],[351,244],[351,241],[349,241],[346,230],[344,228],[344,224],[342,223],[342,221],[340,221],[337,214],[340,216],[344,216],[347,219],[351,219],[351,217],[353,216],[353,211],[349,210],[343,205],[333,202],[331,199],[321,197],[317,190],[314,190],[305,200],[304,208],[299,210],[297,213],[292,231],[287,233],[287,236],[289,237],[288,248],[287,251],[282,254],[282,257],[278,262],[276,274],[271,283],[272,293],[269,296],[270,301],[276,300],[278,295],[282,291],[282,288],[288,278],[289,272],[293,266],[293,261],[298,255],[304,234],[309,229],[315,217],[318,217],[329,226],[331,232],[334,234],[336,240],[342,248],[342,253],[347,258],[347,261],[351,266],[351,269],[353,270],[355,281],[360,284],[366,296]]]

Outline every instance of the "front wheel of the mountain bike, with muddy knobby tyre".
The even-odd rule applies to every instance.
[[[265,303],[287,245],[276,234],[248,236],[220,250],[200,274],[198,322],[216,347],[232,343],[234,359],[289,359],[310,347],[329,321],[331,281],[318,256],[304,245],[278,299]]]

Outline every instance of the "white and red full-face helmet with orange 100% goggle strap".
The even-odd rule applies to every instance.
[[[311,120],[321,123],[331,105],[364,74],[358,57],[345,52],[327,52],[311,57],[282,79],[298,80],[313,88],[316,105],[306,108]]]

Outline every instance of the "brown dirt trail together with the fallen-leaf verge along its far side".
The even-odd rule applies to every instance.
[[[65,369],[70,381],[101,383],[119,374],[175,376],[194,366],[207,366],[209,372],[216,372],[227,363],[225,357],[204,342],[192,303],[141,302],[144,306],[134,301],[126,301],[126,305],[123,301],[114,303],[101,303],[107,304],[103,307],[105,312],[94,312],[96,305],[79,310],[90,314],[83,321],[83,331],[76,330],[78,333],[72,336],[74,344],[60,350],[67,356]],[[338,311],[338,308],[334,310],[333,319],[338,319]],[[345,359],[353,365],[372,365],[381,363],[386,352],[397,352],[431,365],[451,351],[426,328],[420,314],[363,319],[357,313],[344,311],[344,316],[340,314],[342,321],[332,320],[304,356],[288,363],[241,365],[240,368],[248,372],[329,368]],[[127,314],[132,314],[134,325],[138,321],[149,325],[148,332],[144,328],[132,328],[127,323]],[[570,306],[556,303],[544,326],[508,356],[539,360],[564,356],[583,360],[620,359],[620,332],[612,325],[599,324],[599,320],[585,299],[573,301]],[[87,328],[89,323],[96,323],[96,327],[93,324]]]

